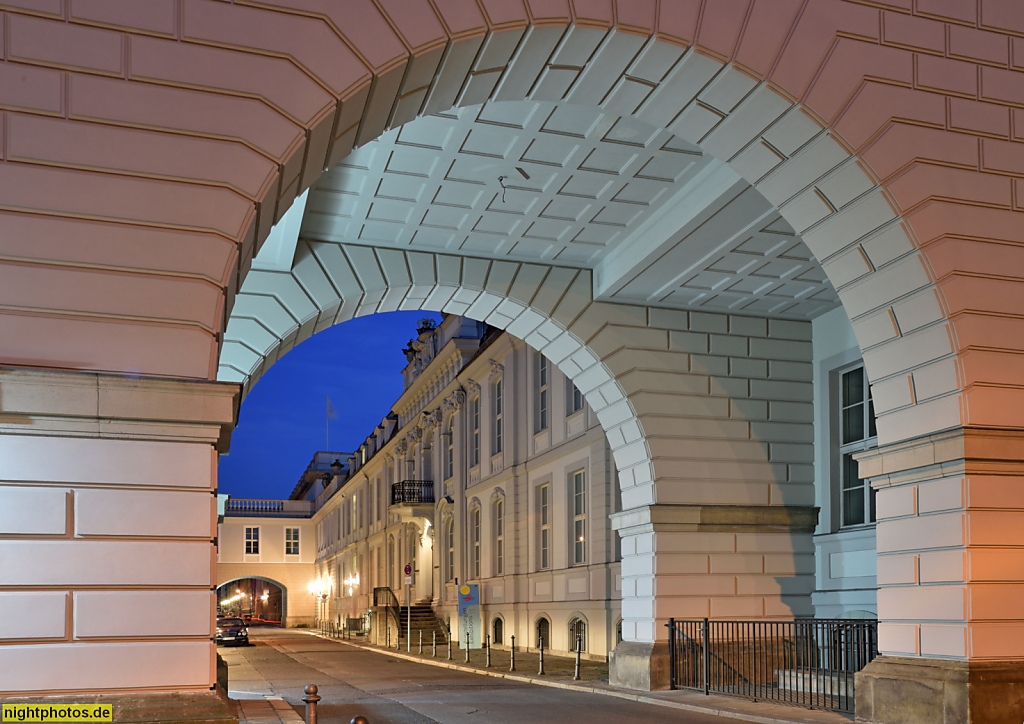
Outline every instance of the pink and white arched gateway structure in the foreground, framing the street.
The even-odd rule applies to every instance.
[[[216,706],[242,397],[422,308],[603,428],[616,681],[877,588],[858,718],[1024,718],[1019,3],[126,7],[0,11],[0,694]]]

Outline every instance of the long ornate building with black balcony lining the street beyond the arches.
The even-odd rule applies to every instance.
[[[571,630],[606,657],[621,631],[620,502],[583,393],[523,342],[459,315],[421,330],[407,354],[390,414],[311,486],[326,615],[358,619],[387,587],[459,636],[458,587],[477,584],[494,644],[536,648],[541,631],[567,652]]]

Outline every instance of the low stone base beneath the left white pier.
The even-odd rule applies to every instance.
[[[191,724],[238,724],[239,715],[233,701],[216,691],[68,694],[62,696],[17,696],[0,701],[38,707],[105,704],[114,708],[116,722],[170,722]]]

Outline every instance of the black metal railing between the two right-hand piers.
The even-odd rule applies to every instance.
[[[878,622],[669,620],[674,689],[853,713],[854,674],[879,653]]]

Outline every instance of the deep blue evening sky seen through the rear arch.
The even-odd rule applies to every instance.
[[[279,359],[242,402],[228,455],[220,456],[219,493],[288,498],[313,453],[325,450],[326,397],[332,451],[351,452],[401,394],[401,350],[416,323],[439,314],[370,314],[313,335]]]

